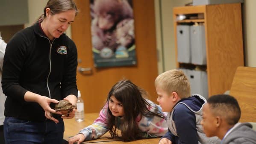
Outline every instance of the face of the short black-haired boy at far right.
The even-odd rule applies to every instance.
[[[203,131],[207,137],[216,136],[217,126],[216,117],[212,114],[209,104],[206,103],[203,106],[203,119],[201,125],[203,126]]]

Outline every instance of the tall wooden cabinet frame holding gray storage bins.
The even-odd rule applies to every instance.
[[[198,14],[200,19],[197,18]],[[203,67],[206,68],[208,77],[208,94],[223,94],[230,90],[236,68],[244,65],[241,4],[174,7],[173,15],[176,62],[177,25],[203,24],[206,41],[206,65]],[[179,21],[179,15],[193,19]],[[177,68],[191,66],[197,65],[177,62]]]

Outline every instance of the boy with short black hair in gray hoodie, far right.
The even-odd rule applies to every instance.
[[[206,136],[218,136],[221,144],[256,144],[256,131],[250,123],[238,123],[241,111],[230,95],[215,95],[203,107],[201,124]]]

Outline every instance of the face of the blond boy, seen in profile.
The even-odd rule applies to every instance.
[[[166,91],[164,91],[160,87],[156,87],[156,93],[158,95],[157,102],[162,107],[163,112],[171,112],[173,109],[175,103],[173,101],[172,94],[168,94]]]

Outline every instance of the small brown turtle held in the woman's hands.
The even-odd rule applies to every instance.
[[[56,103],[54,110],[56,112],[61,112],[63,115],[69,114],[73,109],[76,109],[76,105],[72,105],[68,100],[59,100],[59,103]]]

